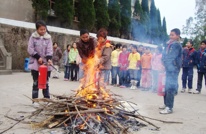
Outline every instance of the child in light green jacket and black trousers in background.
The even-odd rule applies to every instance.
[[[77,75],[79,70],[79,66],[77,65],[77,61],[76,61],[77,56],[78,56],[77,45],[74,42],[69,52],[69,63],[71,64],[71,81],[77,81]]]

